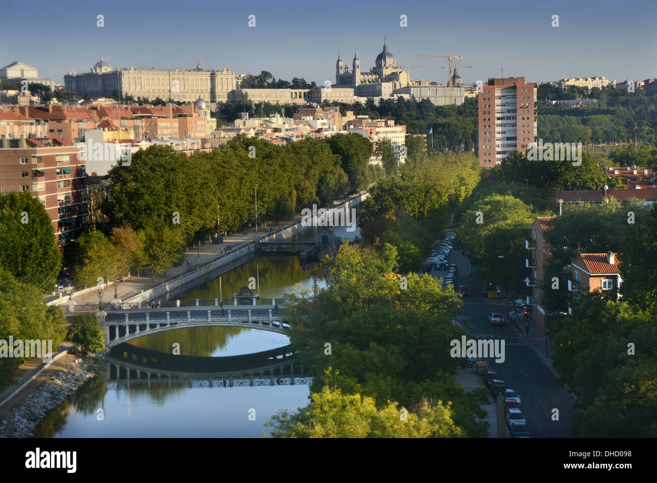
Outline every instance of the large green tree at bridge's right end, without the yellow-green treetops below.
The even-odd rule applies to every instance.
[[[463,334],[451,322],[460,298],[428,275],[402,280],[396,264],[391,245],[376,251],[344,245],[317,274],[326,289],[293,293],[290,305],[299,310],[292,311],[290,340],[313,374],[311,392],[338,387],[374,398],[377,407],[399,401],[411,408],[423,397],[449,400],[464,434],[486,434],[475,419],[483,415],[485,394],[466,394],[453,379],[464,365],[449,355],[450,341]]]

